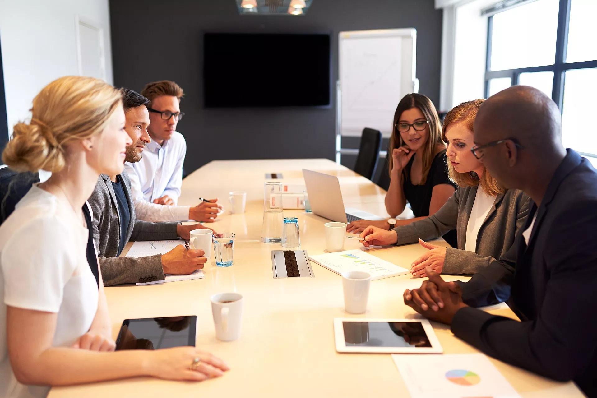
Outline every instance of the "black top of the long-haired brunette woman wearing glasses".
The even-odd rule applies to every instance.
[[[439,152],[433,158],[425,183],[414,185],[411,183],[410,175],[415,156],[417,156],[416,153],[404,167],[402,189],[404,189],[404,196],[407,198],[408,203],[410,203],[411,209],[413,209],[414,217],[427,217],[429,216],[429,205],[431,203],[431,196],[433,195],[433,187],[439,184],[450,184],[456,189],[456,183],[450,181],[450,178],[448,178],[448,158],[445,150],[442,150],[442,152]],[[456,248],[458,246],[456,230],[446,233],[444,239],[452,247]]]

